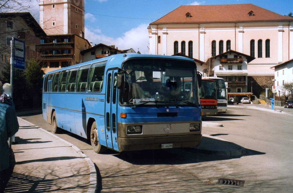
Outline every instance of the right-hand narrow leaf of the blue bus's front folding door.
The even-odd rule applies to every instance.
[[[112,132],[112,142],[113,149],[119,151],[118,149],[118,136],[117,136],[117,101],[118,101],[118,92],[117,92],[117,70],[113,70],[113,81],[111,89],[111,132]]]

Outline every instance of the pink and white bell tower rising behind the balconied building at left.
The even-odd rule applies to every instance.
[[[40,26],[47,35],[84,37],[84,0],[40,0]]]

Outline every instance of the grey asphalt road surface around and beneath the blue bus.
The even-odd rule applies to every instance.
[[[51,130],[41,114],[21,118]],[[227,113],[203,120],[224,125],[203,127],[203,134],[231,141],[248,153],[215,156],[190,148],[96,154],[81,137],[65,131],[57,135],[96,164],[101,192],[292,192],[292,115],[229,106]],[[219,178],[245,183],[243,187],[217,184]]]

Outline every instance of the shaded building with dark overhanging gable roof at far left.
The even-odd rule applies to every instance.
[[[5,65],[10,63],[12,37],[25,42],[25,61],[40,58],[36,46],[46,37],[33,16],[28,13],[0,13],[0,79]]]

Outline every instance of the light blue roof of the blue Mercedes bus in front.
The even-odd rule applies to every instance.
[[[126,56],[124,56],[126,55]],[[83,63],[79,63],[79,64],[75,64],[72,66],[68,66],[65,68],[60,68],[57,70],[53,70],[51,72],[48,72],[46,74],[51,74],[51,73],[55,73],[58,71],[62,71],[62,70],[67,70],[67,69],[71,69],[71,68],[76,68],[76,67],[80,67],[80,66],[86,66],[92,63],[97,63],[97,62],[103,62],[103,61],[111,61],[111,63],[109,65],[107,65],[107,68],[121,68],[121,64],[124,63],[125,61],[129,60],[129,59],[134,59],[134,58],[153,58],[153,59],[177,59],[177,60],[185,60],[185,61],[190,61],[193,62],[193,59],[190,58],[186,58],[183,56],[166,56],[166,55],[151,55],[151,54],[136,54],[136,53],[126,53],[126,54],[115,54],[112,56],[108,56],[105,58],[100,58],[100,59],[96,59],[96,60],[91,60],[91,61],[87,61],[87,62],[83,62]]]

